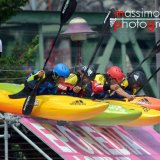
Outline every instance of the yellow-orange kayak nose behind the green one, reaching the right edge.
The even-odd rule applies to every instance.
[[[142,105],[135,105],[132,102],[125,102],[121,100],[104,100],[110,104],[116,105],[124,105],[125,108],[128,109],[135,109],[142,112],[142,115],[137,119],[122,124],[123,126],[147,126],[147,125],[154,125],[160,123],[160,111],[151,109],[149,107],[144,107]]]

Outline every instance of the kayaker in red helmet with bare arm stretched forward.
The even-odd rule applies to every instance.
[[[106,74],[96,74],[95,79],[92,82],[92,97],[94,98],[107,98],[110,97],[112,92],[117,95],[127,98],[129,101],[134,99],[134,95],[128,94],[124,91],[120,84],[125,78],[122,70],[118,66],[112,66]]]

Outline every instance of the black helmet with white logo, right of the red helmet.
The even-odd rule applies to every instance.
[[[142,87],[146,81],[145,74],[142,71],[135,71],[128,77],[129,85],[138,85]]]

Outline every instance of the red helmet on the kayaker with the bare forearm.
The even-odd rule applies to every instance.
[[[117,80],[118,83],[121,83],[125,75],[118,66],[112,66],[107,70],[107,75]]]

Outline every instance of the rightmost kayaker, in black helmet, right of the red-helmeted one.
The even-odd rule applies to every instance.
[[[146,76],[142,71],[134,71],[126,77],[122,81],[121,87],[129,94],[136,94],[137,90],[146,82]]]

